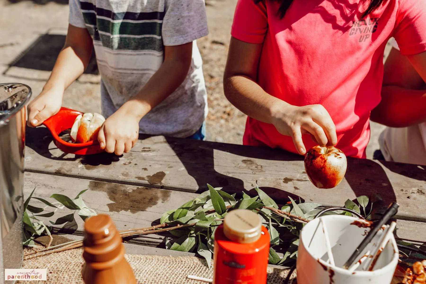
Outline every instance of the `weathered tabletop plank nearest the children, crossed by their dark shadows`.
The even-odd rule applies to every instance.
[[[346,199],[380,193],[401,206],[398,218],[426,221],[426,171],[422,166],[348,159],[345,180],[335,189],[317,189],[302,158],[278,149],[179,138],[141,140],[122,157],[63,155],[47,129],[27,130],[26,171],[97,181],[201,192],[206,184],[228,192],[253,190],[255,181],[278,202],[287,196],[342,206]]]

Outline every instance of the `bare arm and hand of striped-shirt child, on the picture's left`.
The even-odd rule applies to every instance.
[[[87,29],[68,26],[65,46],[43,91],[28,105],[28,125],[39,126],[55,115],[61,105],[63,92],[83,74],[92,55],[93,42]]]

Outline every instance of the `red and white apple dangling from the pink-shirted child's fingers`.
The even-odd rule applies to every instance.
[[[346,173],[345,154],[332,147],[315,146],[305,156],[305,171],[318,188],[333,188],[340,184]]]

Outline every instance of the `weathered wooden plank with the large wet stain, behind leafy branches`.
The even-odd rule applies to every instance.
[[[175,209],[197,196],[197,194],[190,192],[26,172],[24,195],[28,196],[34,188],[33,196],[44,198],[50,202],[55,201],[50,198],[54,193],[75,198],[81,190],[88,188],[89,190],[84,192],[82,196],[87,207],[94,209],[98,214],[110,215],[119,231],[157,225],[164,212]],[[33,200],[31,204],[39,207],[44,205],[36,200]],[[51,207],[46,208],[46,210],[49,209]],[[52,218],[48,219],[55,221],[71,212],[70,209],[59,209]],[[83,220],[77,214],[75,220],[76,224],[67,224],[67,227],[76,229],[78,226],[75,233],[83,235]],[[59,227],[62,227],[62,225]],[[132,242],[157,246],[164,242],[164,234],[144,235],[132,240]]]

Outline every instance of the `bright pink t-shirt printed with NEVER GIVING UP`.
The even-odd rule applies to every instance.
[[[361,2],[359,4],[359,2]],[[257,82],[295,106],[322,104],[337,129],[337,148],[366,157],[369,117],[380,102],[383,53],[394,37],[401,53],[426,51],[426,1],[385,0],[360,20],[369,1],[293,0],[280,19],[280,3],[239,0],[232,36],[263,43]],[[305,147],[315,146],[303,135]],[[272,124],[248,118],[244,144],[297,152]]]

